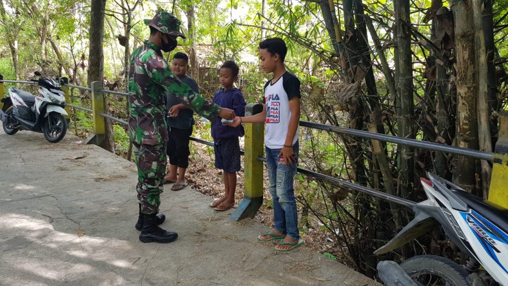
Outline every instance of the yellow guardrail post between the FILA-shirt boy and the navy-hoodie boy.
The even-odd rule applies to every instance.
[[[249,103],[245,106],[245,116],[251,116],[263,111],[263,105]],[[245,155],[243,200],[230,218],[240,220],[251,217],[258,212],[263,204],[263,162],[258,160],[263,156],[264,150],[264,123],[246,123],[245,128]]]

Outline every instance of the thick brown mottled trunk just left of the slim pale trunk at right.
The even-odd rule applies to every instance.
[[[453,0],[452,11],[455,23],[455,49],[457,71],[457,119],[456,146],[478,149],[477,91],[475,74],[474,34],[471,0]],[[466,156],[455,156],[454,182],[472,190],[475,186],[475,160]]]

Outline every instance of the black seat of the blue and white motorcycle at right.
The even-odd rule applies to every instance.
[[[483,199],[464,192],[463,190],[454,189],[453,192],[471,209],[488,218],[492,224],[508,234],[508,209],[487,204]]]

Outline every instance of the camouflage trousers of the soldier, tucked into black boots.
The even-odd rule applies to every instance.
[[[133,143],[138,166],[138,203],[145,214],[158,213],[166,175],[166,143],[146,145]]]

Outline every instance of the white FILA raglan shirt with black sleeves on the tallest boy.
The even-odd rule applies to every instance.
[[[263,103],[266,104],[265,145],[270,149],[280,149],[284,146],[291,118],[289,101],[294,97],[301,98],[300,81],[288,72],[275,83],[272,84],[269,80],[265,84],[263,99]],[[298,140],[299,129],[300,127],[296,130],[293,144]]]

